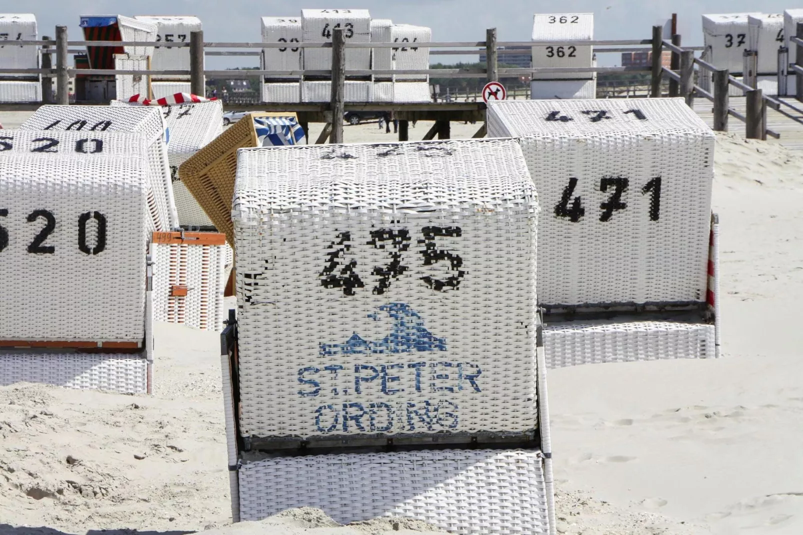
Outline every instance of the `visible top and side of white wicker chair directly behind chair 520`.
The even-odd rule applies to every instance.
[[[177,227],[165,122],[159,108],[145,106],[42,106],[19,127],[27,130],[75,130],[84,133],[141,133],[148,141],[148,209],[155,231]]]

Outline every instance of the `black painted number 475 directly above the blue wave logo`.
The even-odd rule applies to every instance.
[[[423,284],[435,292],[456,290],[466,274],[461,269],[463,258],[451,251],[438,249],[435,239],[438,237],[459,238],[463,235],[462,229],[460,227],[423,227],[421,234],[421,238],[417,241],[418,245],[422,246],[418,250],[418,254],[422,257],[423,265],[432,266],[438,262],[448,263],[451,273],[444,279],[422,276]],[[406,228],[380,228],[371,231],[370,236],[371,239],[365,245],[388,251],[388,263],[368,267],[371,269],[371,275],[379,277],[372,292],[375,295],[381,295],[390,288],[393,280],[410,270],[410,266],[403,263],[405,261],[404,253],[410,250],[410,231]],[[340,232],[336,240],[332,242],[331,252],[326,253],[324,269],[320,272],[320,284],[324,288],[342,288],[344,296],[353,296],[355,289],[365,288],[365,284],[357,274],[359,267],[357,260],[349,254],[354,245],[356,243],[353,241],[350,231]]]

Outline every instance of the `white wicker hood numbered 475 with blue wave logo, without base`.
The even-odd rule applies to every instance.
[[[536,212],[512,140],[240,150],[243,435],[531,430]]]

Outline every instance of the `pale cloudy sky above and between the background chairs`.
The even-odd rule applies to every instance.
[[[563,0],[560,12],[594,14],[595,39],[650,39],[651,27],[678,14],[683,44],[702,45],[700,15],[762,11],[783,13],[803,8],[789,0]],[[82,14],[184,14],[201,18],[206,41],[260,41],[259,18],[300,15],[301,8],[368,9],[373,18],[432,28],[433,41],[483,41],[485,30],[496,27],[499,41],[528,41],[532,14],[556,13],[556,2],[537,0],[0,0],[0,12],[19,10],[36,15],[39,35],[53,35],[56,24],[67,25],[71,39],[80,39]],[[431,60],[454,61],[463,56],[431,56]],[[619,55],[601,55],[599,65],[619,63]],[[234,62],[234,63],[230,63]],[[210,58],[207,68],[256,67],[256,58]]]

